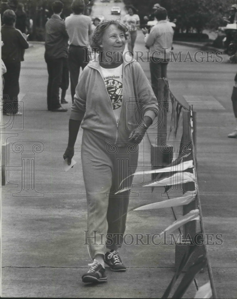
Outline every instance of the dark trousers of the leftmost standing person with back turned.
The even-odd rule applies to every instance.
[[[7,72],[3,75],[3,112],[16,114],[18,111],[18,94],[20,92],[19,77],[21,62],[4,62]]]

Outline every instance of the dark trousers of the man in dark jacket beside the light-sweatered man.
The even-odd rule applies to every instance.
[[[48,110],[54,110],[61,107],[59,102],[59,88],[62,83],[62,74],[67,68],[68,62],[66,57],[57,59],[48,58],[45,55],[48,70],[48,87],[47,87],[47,105]]]

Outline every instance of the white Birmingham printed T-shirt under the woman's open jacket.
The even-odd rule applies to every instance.
[[[111,100],[114,116],[118,122],[123,100],[123,65],[121,64],[117,68],[100,68]]]

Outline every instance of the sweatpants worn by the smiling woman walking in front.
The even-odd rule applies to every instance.
[[[135,172],[138,145],[134,142],[118,145],[98,138],[90,130],[83,131],[81,157],[88,212],[86,244],[92,259],[96,254],[105,254],[105,245],[116,250],[123,242],[130,191],[114,193],[121,181]],[[132,177],[122,188],[131,187]]]

